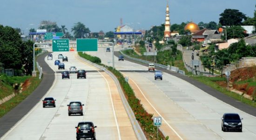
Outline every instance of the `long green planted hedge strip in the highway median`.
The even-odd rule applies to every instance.
[[[95,57],[90,56],[89,54],[83,54],[78,53],[81,57],[93,62]],[[100,58],[97,57],[97,60],[100,60]],[[95,63],[95,62],[94,62]],[[97,63],[98,64],[98,63]],[[101,64],[103,65],[103,64]],[[113,67],[107,67],[109,71],[111,71],[113,74],[115,74],[116,78],[118,79],[121,88],[123,90],[123,93],[125,94],[125,97],[132,108],[136,120],[138,120],[143,132],[145,133],[148,140],[157,140],[157,127],[153,124],[153,114],[147,113],[147,111],[144,109],[144,107],[141,105],[140,100],[136,98],[135,93],[133,89],[130,87],[128,82],[125,81],[124,76],[116,69],[113,69]],[[165,138],[161,131],[159,131],[159,139],[158,140],[168,140],[168,136]]]

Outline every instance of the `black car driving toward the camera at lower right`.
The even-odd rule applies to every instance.
[[[242,121],[237,113],[224,113],[222,116],[222,131],[235,130],[242,132]]]

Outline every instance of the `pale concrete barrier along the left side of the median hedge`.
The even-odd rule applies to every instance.
[[[123,93],[123,91],[121,89],[120,83],[119,83],[118,79],[115,77],[115,75],[113,73],[111,73],[110,71],[108,71],[103,66],[95,64],[95,63],[93,63],[93,62],[91,62],[89,60],[86,60],[86,59],[82,58],[82,57],[80,57],[80,59],[86,61],[87,63],[93,65],[94,67],[97,67],[97,68],[105,71],[115,81],[115,84],[117,85],[118,91],[120,93],[120,97],[121,97],[122,103],[124,104],[124,108],[125,108],[125,110],[126,110],[126,112],[128,114],[128,117],[129,117],[129,119],[131,121],[131,124],[133,126],[133,129],[135,131],[135,134],[136,134],[138,140],[147,140],[145,134],[143,133],[143,131],[142,131],[142,129],[141,129],[139,123],[138,123],[138,121],[135,118],[135,114],[133,113],[132,108],[129,106],[128,101],[125,98],[125,95],[124,95],[124,93]]]

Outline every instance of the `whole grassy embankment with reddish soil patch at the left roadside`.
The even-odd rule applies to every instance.
[[[39,73],[37,73],[37,75],[39,75]],[[38,76],[9,77],[5,74],[1,74],[0,100],[8,95],[11,95],[12,93],[15,93],[15,96],[12,99],[0,105],[0,117],[4,116],[14,107],[19,105],[21,101],[26,99],[27,96],[33,93],[35,88],[39,86],[40,82],[41,80]]]

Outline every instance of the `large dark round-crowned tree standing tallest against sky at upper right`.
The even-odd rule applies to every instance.
[[[227,27],[242,25],[242,21],[247,19],[244,13],[236,9],[225,9],[220,16],[219,22]]]

